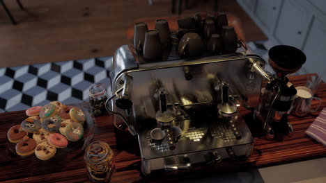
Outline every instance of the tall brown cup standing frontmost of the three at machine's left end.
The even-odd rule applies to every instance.
[[[143,59],[148,61],[161,58],[162,46],[157,30],[147,30],[143,44]]]

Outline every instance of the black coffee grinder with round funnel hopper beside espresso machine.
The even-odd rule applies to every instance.
[[[251,71],[267,80],[267,86],[262,89],[258,107],[254,111],[254,121],[261,125],[261,135],[267,139],[282,141],[284,137],[293,132],[292,125],[288,123],[293,99],[297,90],[286,77],[302,67],[306,55],[293,46],[274,46],[268,51],[268,63],[276,72],[275,75],[263,70],[262,63],[250,59]]]

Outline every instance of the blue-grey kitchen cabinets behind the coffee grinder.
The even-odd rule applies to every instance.
[[[326,78],[325,0],[257,0],[252,8],[248,1],[238,3],[268,37],[267,49],[278,44],[295,46],[306,54],[306,63],[297,73]]]

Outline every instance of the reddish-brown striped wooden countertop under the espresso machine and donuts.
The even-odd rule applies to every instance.
[[[293,85],[304,85],[306,76],[289,77]],[[318,89],[318,96],[323,98],[326,107],[326,84]],[[313,103],[316,105],[316,103]],[[31,155],[20,157],[12,153],[15,144],[7,139],[8,129],[20,124],[26,118],[24,111],[0,114],[0,182],[88,182],[84,151],[81,148],[61,153],[47,161],[41,161]],[[254,150],[248,159],[236,162],[224,161],[215,166],[205,164],[194,165],[190,170],[155,171],[150,177],[142,177],[140,172],[140,153],[136,137],[128,132],[120,132],[114,128],[112,116],[96,118],[94,140],[105,141],[116,155],[116,171],[111,182],[178,182],[194,177],[210,176],[227,171],[238,171],[243,168],[256,168],[276,164],[298,162],[326,156],[325,146],[306,137],[304,131],[316,116],[304,118],[289,117],[293,125],[293,137],[282,142],[267,141],[255,138]]]

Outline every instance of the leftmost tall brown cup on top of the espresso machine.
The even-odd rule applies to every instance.
[[[145,34],[148,30],[145,22],[134,24],[134,49],[137,52],[143,51],[143,43],[145,42]]]

